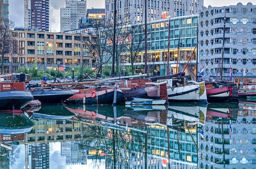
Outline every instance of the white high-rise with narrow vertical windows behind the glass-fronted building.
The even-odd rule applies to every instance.
[[[105,0],[106,17],[113,17],[114,0]],[[159,20],[163,13],[171,17],[198,14],[204,5],[203,0],[148,0],[145,6],[144,0],[121,0],[117,2],[117,22],[124,18],[125,22],[144,22],[144,10],[147,10],[147,21]],[[166,15],[164,16],[164,18]]]

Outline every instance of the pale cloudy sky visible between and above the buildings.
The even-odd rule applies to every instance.
[[[229,6],[242,2],[246,5],[255,0],[204,0],[204,6]],[[104,8],[104,0],[87,0],[88,8]],[[256,3],[255,3],[256,4]],[[50,28],[60,31],[60,8],[65,7],[65,0],[50,0]],[[16,26],[24,27],[24,0],[9,0],[9,19],[15,22]]]

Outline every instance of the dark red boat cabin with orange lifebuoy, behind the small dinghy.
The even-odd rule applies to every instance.
[[[152,84],[146,84],[152,82],[150,79],[129,79],[115,82],[115,85],[120,85],[121,90],[131,90],[138,87],[148,87]]]

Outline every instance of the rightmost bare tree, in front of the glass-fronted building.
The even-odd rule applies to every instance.
[[[144,51],[145,33],[142,25],[131,25],[129,27],[129,36],[128,40],[125,41],[126,44],[126,53],[128,54],[127,61],[132,64],[132,74],[134,75],[133,64],[136,61],[136,56]]]

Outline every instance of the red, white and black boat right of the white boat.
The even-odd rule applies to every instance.
[[[238,102],[238,89],[236,84],[223,84],[220,82],[205,82],[208,102]]]

